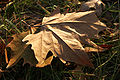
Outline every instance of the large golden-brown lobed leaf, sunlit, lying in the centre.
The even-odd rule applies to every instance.
[[[97,37],[105,29],[94,11],[55,14],[43,18],[43,27],[29,34],[23,41],[32,45],[38,64],[45,62],[49,51],[62,61],[71,61],[84,66],[93,66],[82,43],[89,44],[88,38]]]

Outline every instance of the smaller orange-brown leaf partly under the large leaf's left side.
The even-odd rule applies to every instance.
[[[29,31],[12,36],[13,40],[7,45],[7,48],[11,48],[11,59],[7,65],[7,68],[14,66],[21,58],[24,59],[24,64],[30,63],[31,65],[35,65],[37,63],[30,46],[22,42],[22,39],[28,34]]]

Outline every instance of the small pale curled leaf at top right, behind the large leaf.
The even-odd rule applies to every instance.
[[[105,4],[101,0],[89,0],[81,5],[81,11],[88,11],[91,8],[94,8],[96,10],[96,14],[98,16],[102,13],[102,6],[105,7]]]

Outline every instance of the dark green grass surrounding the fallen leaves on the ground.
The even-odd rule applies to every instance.
[[[44,16],[48,16],[59,5],[61,12],[69,9],[68,12],[78,11],[79,5],[64,0],[13,0],[7,7],[1,10],[0,15],[0,38],[7,45],[8,37],[29,30],[28,25],[34,25],[41,22]],[[108,44],[113,47],[102,53],[90,53],[91,60],[95,69],[82,67],[81,72],[71,72],[76,65],[63,64],[58,58],[54,58],[52,64],[44,68],[31,67],[29,64],[23,64],[21,59],[14,67],[7,72],[2,73],[0,80],[78,80],[72,74],[83,75],[87,80],[119,80],[120,77],[120,40],[119,34],[114,34],[120,29],[120,10],[118,1],[105,1],[106,8],[99,19],[104,22],[112,31],[101,32],[99,39],[94,39],[96,44]],[[37,18],[31,15],[39,15]],[[23,23],[26,21],[27,24]],[[119,32],[118,32],[119,33]],[[2,43],[3,45],[3,43]],[[5,56],[0,52],[0,68],[6,67]]]

